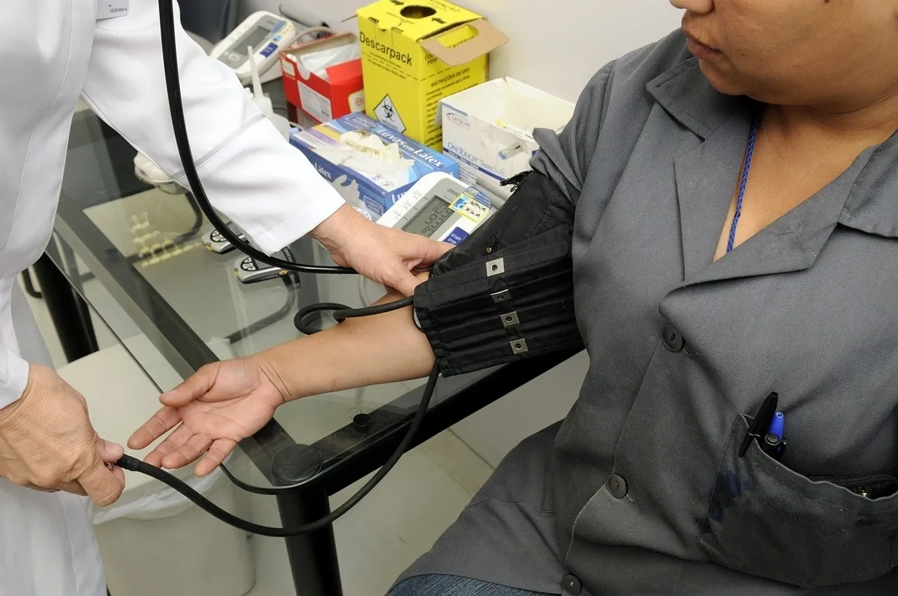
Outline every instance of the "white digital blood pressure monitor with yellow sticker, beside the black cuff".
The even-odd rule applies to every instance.
[[[433,172],[409,188],[377,223],[457,245],[495,212],[480,188]]]

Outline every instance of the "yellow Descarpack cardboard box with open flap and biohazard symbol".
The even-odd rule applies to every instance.
[[[357,11],[372,118],[439,150],[439,101],[489,78],[489,52],[508,38],[443,0],[378,0]]]

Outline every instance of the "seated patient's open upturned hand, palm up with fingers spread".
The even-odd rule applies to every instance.
[[[202,477],[268,424],[286,393],[276,375],[248,357],[207,364],[159,400],[163,408],[131,435],[128,447],[144,449],[177,426],[145,461],[175,469],[205,454],[194,470]]]

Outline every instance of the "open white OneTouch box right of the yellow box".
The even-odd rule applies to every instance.
[[[557,132],[574,104],[515,79],[495,79],[440,101],[443,153],[461,164],[462,180],[507,197],[498,183],[530,170],[539,149],[534,128]]]

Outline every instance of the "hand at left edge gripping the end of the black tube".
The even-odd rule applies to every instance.
[[[22,397],[0,409],[0,476],[18,486],[109,505],[125,489],[125,472],[107,464],[124,452],[97,436],[84,396],[46,367],[31,365]]]

